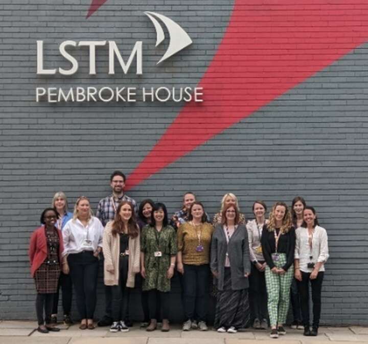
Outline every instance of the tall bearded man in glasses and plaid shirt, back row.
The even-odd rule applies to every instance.
[[[122,201],[131,202],[134,206],[135,214],[137,214],[138,212],[136,201],[133,198],[130,198],[124,194],[125,181],[126,181],[125,174],[121,171],[114,171],[110,176],[110,186],[112,189],[112,194],[99,201],[96,212],[96,217],[99,218],[103,226],[106,226],[106,223],[108,221],[114,219],[116,210],[119,207],[119,203]],[[105,299],[106,299],[106,314],[98,322],[97,324],[98,326],[110,326],[112,324],[111,286],[105,286]],[[127,294],[127,305],[129,305],[129,293]],[[127,326],[129,325],[132,326],[131,322],[129,321],[129,307],[126,308],[124,320]]]

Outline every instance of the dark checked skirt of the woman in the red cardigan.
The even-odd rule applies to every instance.
[[[42,263],[35,273],[36,290],[39,294],[56,293],[60,276],[59,264]]]

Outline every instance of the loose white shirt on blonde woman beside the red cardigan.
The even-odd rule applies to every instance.
[[[63,256],[82,251],[96,251],[102,247],[104,227],[97,217],[91,217],[86,226],[79,219],[66,222],[63,231]]]

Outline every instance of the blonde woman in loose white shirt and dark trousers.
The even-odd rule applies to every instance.
[[[93,216],[89,199],[81,196],[74,206],[73,219],[62,231],[63,272],[71,274],[76,291],[77,308],[81,317],[81,330],[95,328],[96,287],[99,268],[98,256],[102,250],[103,226]]]

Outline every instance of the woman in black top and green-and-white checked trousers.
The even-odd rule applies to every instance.
[[[267,307],[271,338],[284,335],[284,323],[289,309],[290,285],[293,278],[295,230],[284,202],[276,202],[269,222],[262,231],[262,253],[267,263],[265,270]]]

